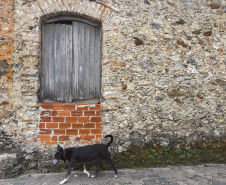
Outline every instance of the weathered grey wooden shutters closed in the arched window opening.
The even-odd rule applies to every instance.
[[[44,23],[41,101],[100,99],[100,84],[100,26],[77,20]]]

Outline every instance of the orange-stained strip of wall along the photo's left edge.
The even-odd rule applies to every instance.
[[[14,0],[0,2],[0,117],[11,116]],[[1,131],[1,130],[0,130]]]

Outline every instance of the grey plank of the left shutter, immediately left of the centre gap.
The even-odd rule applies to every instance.
[[[65,100],[72,101],[72,25],[66,25],[66,86]]]

